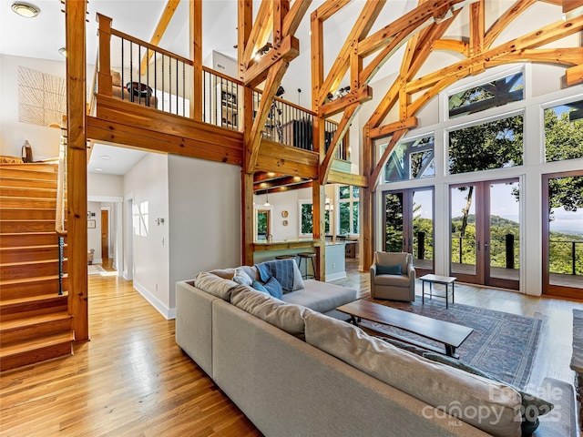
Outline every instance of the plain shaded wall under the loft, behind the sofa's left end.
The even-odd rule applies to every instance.
[[[174,284],[241,263],[240,167],[169,155],[169,308]]]

